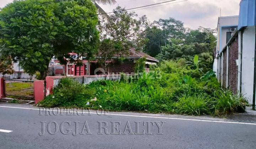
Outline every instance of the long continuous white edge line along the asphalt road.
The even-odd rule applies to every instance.
[[[26,107],[13,107],[13,106],[0,106],[0,107],[10,107],[16,109],[28,109],[28,110],[40,110],[40,109],[33,109],[33,108],[26,108]],[[49,110],[43,109],[46,111],[55,111],[55,112],[66,112],[63,110]],[[74,111],[69,111],[70,113],[74,113]],[[80,112],[75,111],[76,113],[89,113],[89,112]],[[90,112],[90,114],[97,114],[96,112]],[[186,120],[186,121],[200,121],[200,122],[216,122],[216,123],[232,123],[232,124],[245,124],[245,125],[256,125],[256,123],[243,123],[243,122],[230,122],[230,121],[213,121],[213,120],[198,120],[198,119],[189,119],[189,118],[172,118],[172,117],[156,117],[156,116],[139,116],[139,115],[125,115],[125,114],[111,114],[107,113],[107,115],[118,115],[118,116],[130,116],[130,117],[146,117],[146,118],[163,118],[163,119],[170,119],[170,120]]]

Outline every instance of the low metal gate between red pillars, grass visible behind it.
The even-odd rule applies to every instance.
[[[4,93],[7,97],[34,100],[34,81],[25,79],[4,79]]]

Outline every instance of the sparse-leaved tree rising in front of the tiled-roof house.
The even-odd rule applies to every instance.
[[[113,57],[118,59],[128,55],[130,48],[142,50],[144,45],[142,32],[147,18],[145,16],[136,18],[135,12],[127,12],[120,6],[113,12],[109,15],[108,21],[103,18],[98,25],[100,44],[97,61],[105,71]]]

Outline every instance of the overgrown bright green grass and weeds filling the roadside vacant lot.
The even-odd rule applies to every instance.
[[[120,82],[81,85],[65,78],[39,105],[188,115],[228,114],[243,111],[246,105],[244,98],[221,89],[212,71],[203,74],[182,60],[164,61],[151,69]]]

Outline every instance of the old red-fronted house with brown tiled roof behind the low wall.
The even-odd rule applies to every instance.
[[[113,57],[112,60],[107,61],[108,70],[101,69],[101,65],[95,61],[88,61],[82,59],[83,65],[76,66],[75,64],[68,63],[66,66],[60,65],[57,59],[54,60],[54,75],[68,75],[68,76],[83,76],[83,75],[103,75],[103,74],[119,74],[123,73],[134,73],[134,66],[138,59],[143,57],[146,58],[145,70],[149,71],[149,65],[156,65],[159,61],[154,57],[151,57],[141,51],[136,51],[134,48],[130,48],[128,55],[124,56],[122,62],[116,61],[117,57]],[[68,72],[68,73],[66,73]]]

